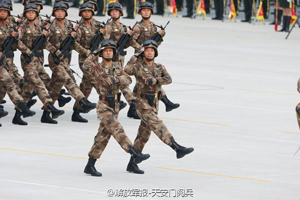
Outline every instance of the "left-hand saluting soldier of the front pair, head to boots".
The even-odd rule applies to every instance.
[[[102,41],[100,48],[90,54],[83,64],[83,69],[94,78],[99,94],[97,115],[100,119],[100,125],[94,137],[94,143],[88,152],[89,158],[84,168],[84,173],[93,176],[102,175],[95,169],[94,164],[96,159],[101,156],[111,135],[126,152],[131,154],[134,163],[139,163],[150,157],[149,154],[142,154],[132,147],[130,139],[117,120],[120,85],[130,84],[131,78],[118,62],[112,63],[112,56],[116,53],[115,46],[115,42],[112,40]],[[97,55],[102,57],[101,63],[94,62]]]

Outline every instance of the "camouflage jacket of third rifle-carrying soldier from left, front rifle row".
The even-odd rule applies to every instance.
[[[55,19],[53,19],[55,20]],[[57,49],[61,49],[61,44],[63,43],[64,39],[70,35],[72,32],[72,24],[67,20],[64,19],[64,26],[60,26],[56,21],[51,25],[48,31],[48,41]],[[82,53],[85,55],[89,54],[89,50],[83,48],[78,42],[74,42],[71,46],[75,51],[78,53]],[[69,49],[68,53],[71,53],[72,49]]]

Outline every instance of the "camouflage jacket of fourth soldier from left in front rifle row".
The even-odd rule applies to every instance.
[[[76,41],[85,49],[90,49],[91,42],[92,42],[94,36],[99,32],[99,30],[101,28],[101,24],[99,21],[97,21],[95,19],[93,19],[91,21],[91,26],[88,26],[87,24],[85,24],[82,19],[80,20],[80,22],[82,22],[82,24],[79,26],[79,28],[77,30]],[[79,63],[83,63],[84,59],[86,57],[87,56],[85,56],[85,55],[79,54],[78,55]],[[95,61],[97,61],[97,60],[98,60],[98,56],[95,57]]]

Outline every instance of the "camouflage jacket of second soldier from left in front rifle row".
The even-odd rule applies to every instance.
[[[31,54],[31,50],[33,48],[33,43],[36,38],[42,34],[42,28],[37,25],[38,21],[35,21],[35,27],[32,27],[27,19],[20,25],[18,29],[18,46],[17,48],[27,55]],[[51,53],[55,53],[56,48],[47,40],[44,42],[42,48],[47,49]],[[37,52],[41,53],[43,50],[39,49]]]

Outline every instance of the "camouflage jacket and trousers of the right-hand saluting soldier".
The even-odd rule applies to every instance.
[[[153,66],[147,66],[144,61],[140,63],[136,62],[136,59],[137,58],[135,56],[132,56],[124,70],[129,75],[135,76],[137,94],[139,92],[160,93],[161,85],[171,83],[172,78],[162,64],[153,62]],[[147,78],[155,78],[158,80],[158,83],[147,85],[145,84],[145,80]],[[137,136],[133,143],[133,148],[140,152],[149,139],[151,130],[161,141],[169,146],[174,141],[171,133],[168,131],[162,120],[160,120],[157,116],[158,102],[159,99],[155,96],[153,105],[150,106],[147,99],[139,95],[136,96],[136,112],[141,120]]]

